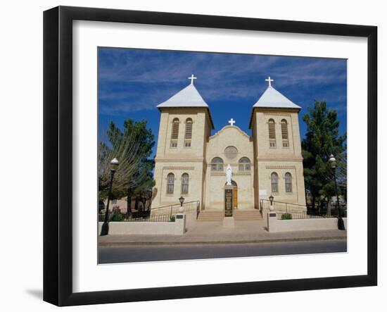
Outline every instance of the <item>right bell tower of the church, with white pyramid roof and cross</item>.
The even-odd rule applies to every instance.
[[[250,129],[254,138],[255,199],[305,205],[303,156],[298,113],[301,107],[272,87],[254,104]]]

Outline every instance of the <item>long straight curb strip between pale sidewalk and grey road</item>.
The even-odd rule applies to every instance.
[[[125,246],[158,246],[158,245],[203,245],[203,244],[260,244],[260,243],[278,243],[278,242],[307,242],[317,240],[346,240],[347,237],[332,236],[332,237],[300,237],[300,238],[279,238],[279,239],[255,239],[255,240],[240,240],[240,241],[212,241],[212,242],[99,242],[99,247],[125,247]]]

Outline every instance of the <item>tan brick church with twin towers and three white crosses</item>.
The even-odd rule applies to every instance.
[[[250,134],[231,118],[215,135],[210,107],[191,84],[159,104],[152,208],[200,201],[201,209],[259,208],[260,199],[305,205],[303,157],[294,104],[268,87],[252,106]]]

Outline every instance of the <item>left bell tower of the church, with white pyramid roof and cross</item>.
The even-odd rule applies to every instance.
[[[205,146],[214,128],[208,104],[194,85],[197,78],[159,104],[160,127],[155,158],[156,196],[152,208],[185,201],[203,202]]]

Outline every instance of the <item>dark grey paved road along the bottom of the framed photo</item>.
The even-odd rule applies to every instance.
[[[347,251],[345,239],[245,244],[178,244],[100,247],[99,263],[321,254]]]

